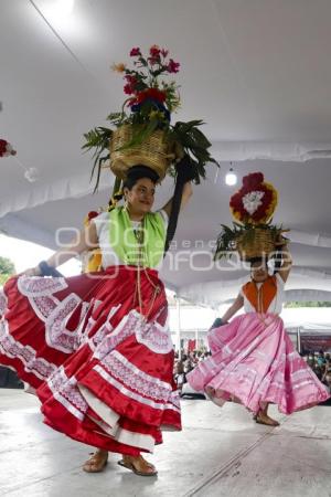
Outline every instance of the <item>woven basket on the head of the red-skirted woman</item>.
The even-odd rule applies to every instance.
[[[128,169],[142,165],[153,169],[162,180],[174,155],[170,154],[164,131],[153,131],[142,144],[119,150],[132,139],[132,126],[120,126],[113,133],[110,140],[110,169],[115,176],[125,179]]]

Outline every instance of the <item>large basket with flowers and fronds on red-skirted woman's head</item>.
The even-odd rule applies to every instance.
[[[122,180],[130,167],[143,165],[153,169],[161,180],[167,173],[175,176],[174,165],[184,156],[199,183],[205,178],[207,162],[217,162],[200,129],[202,120],[171,123],[172,113],[180,107],[180,95],[169,76],[179,72],[180,63],[158,45],[152,45],[148,55],[134,47],[130,57],[131,66],[124,63],[113,66],[125,81],[127,98],[121,110],[109,114],[109,127],[99,126],[84,135],[83,149],[94,151],[95,190],[104,167],[110,167],[118,180]]]

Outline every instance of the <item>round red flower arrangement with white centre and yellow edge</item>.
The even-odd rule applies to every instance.
[[[277,190],[264,181],[261,172],[243,178],[243,187],[229,200],[233,216],[249,224],[267,223],[277,205]]]

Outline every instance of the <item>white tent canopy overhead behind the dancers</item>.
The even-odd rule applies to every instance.
[[[289,299],[331,294],[331,3],[323,0],[0,0],[0,137],[18,159],[0,163],[0,230],[55,247],[60,228],[82,225],[105,205],[105,171],[92,195],[83,133],[120,107],[122,82],[109,71],[131,46],[153,43],[182,64],[179,120],[203,118],[221,160],[194,189],[166,258],[169,287],[217,307],[235,297],[247,271],[212,263],[221,223],[231,223],[229,161],[238,177],[260,170],[279,190],[276,223],[291,230]],[[24,178],[24,168],[39,180]],[[167,179],[158,205],[171,195]],[[63,240],[70,230],[62,232]],[[179,254],[180,252],[180,254]],[[174,255],[177,254],[177,257]]]

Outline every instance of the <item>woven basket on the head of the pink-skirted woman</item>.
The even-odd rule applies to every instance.
[[[236,241],[236,250],[243,261],[253,257],[267,257],[276,250],[276,235],[274,231],[253,228],[249,233],[241,235]]]

